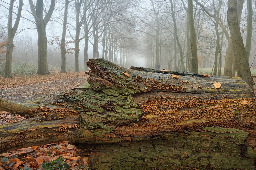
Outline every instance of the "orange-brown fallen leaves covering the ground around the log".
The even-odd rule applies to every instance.
[[[88,76],[83,73],[57,73],[50,75],[31,75],[13,78],[0,76],[0,97],[12,101],[24,101],[37,97],[44,97],[74,87],[86,82]],[[20,115],[12,115],[0,111],[0,125],[9,124],[25,119]],[[1,162],[0,170],[16,170],[30,167],[34,170],[41,169],[44,161],[50,162],[55,159],[62,159],[68,163],[71,169],[88,169],[88,158],[80,157],[79,150],[67,141],[52,143],[43,146],[22,148],[8,153],[0,154],[0,159],[8,158],[10,161]]]

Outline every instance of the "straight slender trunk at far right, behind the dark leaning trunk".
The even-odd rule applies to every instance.
[[[253,5],[252,0],[247,0],[247,27],[246,27],[246,43],[245,51],[250,62],[251,43],[252,43],[252,23],[253,23]]]

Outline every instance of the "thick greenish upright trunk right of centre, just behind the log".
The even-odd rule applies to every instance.
[[[193,20],[193,0],[188,0],[189,29],[191,37],[191,66],[192,71],[198,73],[196,31]]]

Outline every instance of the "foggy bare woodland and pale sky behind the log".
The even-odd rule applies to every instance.
[[[195,71],[192,41],[196,42],[199,73],[235,76],[227,0],[191,2],[193,11],[186,0],[0,0],[0,74],[8,68],[9,29],[15,35],[12,72],[6,73],[11,76],[88,70],[85,63],[90,58],[105,58],[127,68]],[[252,74],[256,72],[255,6],[256,1],[237,1]]]

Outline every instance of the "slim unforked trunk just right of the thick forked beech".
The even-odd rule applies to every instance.
[[[61,73],[66,72],[65,39],[66,39],[66,27],[67,27],[67,16],[68,16],[68,4],[69,4],[69,0],[65,0],[65,10],[64,10],[62,36],[61,36],[61,66],[60,66],[60,72]]]

